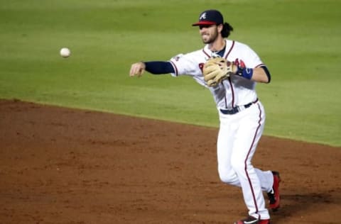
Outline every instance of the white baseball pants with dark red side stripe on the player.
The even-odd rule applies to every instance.
[[[220,114],[217,138],[217,164],[220,179],[242,187],[249,215],[269,219],[262,191],[274,184],[271,171],[261,171],[251,164],[256,146],[264,130],[265,112],[260,101],[233,115]]]

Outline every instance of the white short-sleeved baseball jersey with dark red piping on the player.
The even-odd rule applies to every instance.
[[[258,55],[256,55],[256,52],[251,50],[249,46],[234,40],[225,41],[226,47],[223,57],[228,61],[242,60],[246,67],[249,68],[264,65]],[[202,76],[202,67],[213,55],[215,53],[208,48],[208,45],[205,45],[202,50],[185,55],[176,55],[170,60],[175,70],[175,73],[172,75],[192,76],[199,84],[209,88],[214,96],[217,108],[232,108],[256,101],[257,95],[254,90],[256,83],[243,77],[232,76],[229,79],[225,79],[222,82],[223,86],[209,87],[205,84],[204,77]]]

